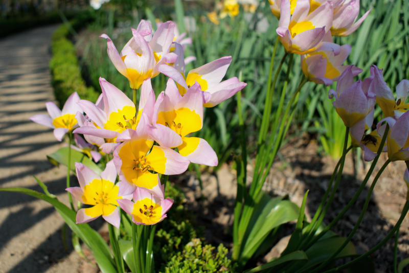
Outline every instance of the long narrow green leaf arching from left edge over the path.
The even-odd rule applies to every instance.
[[[101,271],[104,273],[116,272],[115,262],[113,261],[110,249],[101,235],[86,223],[77,224],[75,222],[76,213],[58,201],[57,198],[52,198],[46,194],[26,188],[0,188],[0,191],[24,193],[52,204],[65,223],[70,226],[71,230],[91,249]]]

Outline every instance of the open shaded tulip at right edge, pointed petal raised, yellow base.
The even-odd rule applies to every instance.
[[[376,94],[376,103],[379,104],[385,117],[395,116],[398,118],[409,108],[409,104],[405,103],[409,93],[409,81],[402,80],[396,86],[397,98],[395,100],[391,88],[383,80],[382,70],[378,69],[376,65],[372,65],[371,75],[374,78],[371,90]]]

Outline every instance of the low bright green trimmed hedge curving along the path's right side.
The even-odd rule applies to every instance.
[[[87,87],[82,79],[80,66],[74,44],[71,42],[71,30],[78,29],[84,24],[84,19],[74,19],[71,25],[63,24],[54,32],[52,37],[53,57],[50,61],[52,85],[55,98],[62,106],[66,99],[76,91],[81,99],[95,102],[99,92],[93,87]]]

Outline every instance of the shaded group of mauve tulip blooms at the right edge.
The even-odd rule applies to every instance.
[[[409,80],[402,80],[396,86],[396,99],[391,88],[383,80],[382,70],[376,65],[371,67],[371,76],[354,82],[354,75],[360,70],[349,66],[339,77],[336,91],[330,90],[329,98],[335,98],[333,105],[338,115],[350,128],[352,143],[365,151],[365,160],[375,157],[386,124],[389,131],[382,151],[388,151],[390,161],[409,160],[409,104],[405,103],[409,95]],[[382,109],[384,119],[375,128],[375,103]],[[385,123],[386,122],[386,123]],[[373,129],[371,132],[370,129]]]

